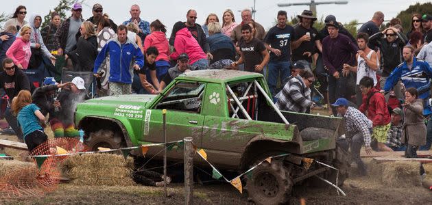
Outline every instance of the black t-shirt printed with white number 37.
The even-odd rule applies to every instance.
[[[279,49],[282,53],[280,56],[270,52],[270,61],[289,61],[291,59],[291,42],[294,36],[294,28],[287,25],[281,29],[277,26],[272,27],[265,36],[264,42],[272,46],[273,49]]]

